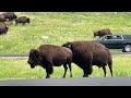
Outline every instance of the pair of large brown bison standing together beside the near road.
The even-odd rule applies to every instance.
[[[72,77],[71,63],[75,63],[83,70],[83,77],[88,77],[93,72],[93,65],[103,68],[104,76],[106,76],[106,65],[109,66],[112,76],[112,57],[104,45],[95,41],[70,41],[61,46],[41,45],[38,49],[31,49],[27,63],[31,68],[40,65],[46,69],[46,78],[53,73],[53,66],[63,65],[64,74],[70,69],[70,77]]]

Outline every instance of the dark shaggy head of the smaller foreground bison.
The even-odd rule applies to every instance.
[[[34,69],[36,65],[40,64],[39,62],[39,52],[36,49],[31,49],[27,63]]]

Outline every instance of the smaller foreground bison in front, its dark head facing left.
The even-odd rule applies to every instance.
[[[46,78],[50,77],[53,72],[53,65],[60,66],[63,64],[66,77],[69,65],[70,77],[72,77],[71,71],[72,51],[66,47],[53,46],[53,45],[41,45],[38,49],[31,49],[29,58],[27,63],[34,69],[36,65],[40,65],[46,69]]]

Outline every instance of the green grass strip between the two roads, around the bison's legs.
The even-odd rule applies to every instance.
[[[124,59],[123,59],[124,58]],[[114,56],[114,76],[131,76],[131,56]],[[25,78],[45,78],[46,71],[36,66],[31,69],[26,63],[27,59],[0,59],[0,79],[25,79]],[[62,78],[63,66],[55,66],[51,78]],[[73,77],[82,77],[83,71],[72,64]],[[90,77],[103,77],[103,69],[93,66],[93,74]],[[107,76],[110,76],[109,69],[107,66]],[[67,72],[67,78],[70,77],[70,71]]]

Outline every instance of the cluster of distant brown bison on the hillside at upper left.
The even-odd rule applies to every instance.
[[[29,17],[17,17],[14,12],[3,12],[0,14],[0,35],[8,33],[9,26],[13,24],[13,21],[15,22],[15,25],[17,23],[22,23],[23,25],[25,25],[25,23],[31,23]]]

